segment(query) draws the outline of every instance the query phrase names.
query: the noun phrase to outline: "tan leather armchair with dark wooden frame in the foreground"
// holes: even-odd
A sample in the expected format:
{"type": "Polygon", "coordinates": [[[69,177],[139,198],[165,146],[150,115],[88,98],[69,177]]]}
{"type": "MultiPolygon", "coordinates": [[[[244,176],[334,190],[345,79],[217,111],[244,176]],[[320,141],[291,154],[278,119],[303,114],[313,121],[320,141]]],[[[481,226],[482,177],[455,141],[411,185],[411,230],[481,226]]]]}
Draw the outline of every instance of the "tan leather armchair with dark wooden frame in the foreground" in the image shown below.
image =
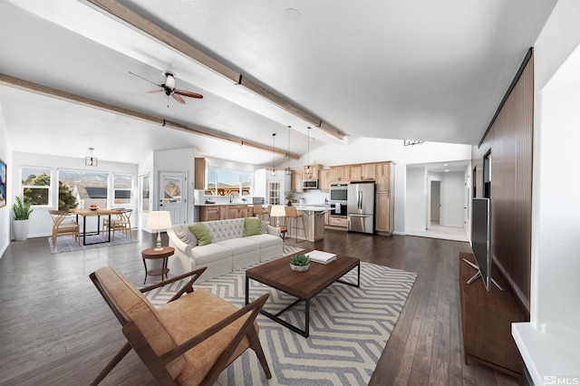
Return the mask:
{"type": "Polygon", "coordinates": [[[101,382],[131,348],[162,385],[211,385],[247,348],[256,352],[266,377],[272,378],[256,323],[268,294],[238,309],[203,289],[193,290],[193,283],[205,270],[202,267],[141,289],[110,266],[90,275],[128,341],[93,385],[101,382]],[[158,309],[143,295],[189,276],[189,282],[158,309]]]}

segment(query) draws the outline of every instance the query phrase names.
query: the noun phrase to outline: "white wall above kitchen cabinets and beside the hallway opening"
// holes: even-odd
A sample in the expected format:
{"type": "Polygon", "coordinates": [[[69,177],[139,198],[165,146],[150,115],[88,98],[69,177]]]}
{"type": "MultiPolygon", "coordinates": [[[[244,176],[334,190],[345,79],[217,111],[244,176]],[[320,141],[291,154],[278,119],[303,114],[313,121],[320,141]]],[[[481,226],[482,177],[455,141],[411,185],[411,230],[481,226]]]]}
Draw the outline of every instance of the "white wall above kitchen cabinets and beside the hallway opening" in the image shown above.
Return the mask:
{"type": "MultiPolygon", "coordinates": [[[[324,165],[327,169],[332,165],[347,165],[352,163],[394,161],[395,165],[395,229],[394,233],[405,233],[405,194],[406,165],[415,163],[444,162],[471,159],[471,147],[452,143],[425,142],[422,145],[403,146],[402,140],[382,140],[375,138],[349,138],[348,146],[329,144],[310,151],[311,163],[324,165]]],[[[306,156],[290,161],[290,167],[303,169],[306,156]]],[[[285,168],[286,165],[282,165],[285,168]]],[[[307,196],[304,196],[307,197],[307,196]]],[[[323,198],[324,199],[324,198],[323,198]]],[[[412,211],[414,207],[409,207],[412,211]]],[[[421,213],[425,217],[425,212],[421,213]]]]}

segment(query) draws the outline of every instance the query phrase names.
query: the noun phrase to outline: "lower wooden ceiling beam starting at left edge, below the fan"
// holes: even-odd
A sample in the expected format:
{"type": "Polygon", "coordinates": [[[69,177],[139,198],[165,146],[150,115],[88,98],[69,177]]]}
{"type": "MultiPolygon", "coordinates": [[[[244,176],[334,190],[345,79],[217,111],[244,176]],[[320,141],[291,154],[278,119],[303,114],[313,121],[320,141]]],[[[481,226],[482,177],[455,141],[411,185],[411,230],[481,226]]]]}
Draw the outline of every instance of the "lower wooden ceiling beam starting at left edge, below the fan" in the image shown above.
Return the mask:
{"type": "Polygon", "coordinates": [[[81,95],[73,94],[71,92],[63,92],[62,90],[53,89],[52,87],[43,86],[42,84],[24,81],[23,79],[14,78],[4,73],[0,73],[0,84],[9,87],[14,87],[19,90],[24,90],[26,92],[34,92],[43,96],[59,99],[61,101],[73,102],[76,104],[80,104],[82,106],[91,107],[92,109],[113,112],[118,115],[129,117],[131,119],[153,123],[174,130],[186,131],[192,134],[198,134],[215,140],[225,140],[228,142],[237,143],[240,146],[248,146],[254,149],[275,152],[275,154],[278,154],[283,157],[288,156],[291,159],[300,159],[300,157],[296,154],[293,153],[288,154],[284,150],[273,150],[272,148],[266,145],[262,145],[261,143],[256,143],[251,140],[244,140],[242,138],[227,136],[218,131],[207,130],[200,128],[198,126],[188,126],[179,122],[164,120],[162,118],[155,117],[150,114],[145,114],[140,111],[125,109],[123,107],[115,106],[110,103],[105,103],[103,101],[96,101],[91,98],[86,98],[81,95]]]}

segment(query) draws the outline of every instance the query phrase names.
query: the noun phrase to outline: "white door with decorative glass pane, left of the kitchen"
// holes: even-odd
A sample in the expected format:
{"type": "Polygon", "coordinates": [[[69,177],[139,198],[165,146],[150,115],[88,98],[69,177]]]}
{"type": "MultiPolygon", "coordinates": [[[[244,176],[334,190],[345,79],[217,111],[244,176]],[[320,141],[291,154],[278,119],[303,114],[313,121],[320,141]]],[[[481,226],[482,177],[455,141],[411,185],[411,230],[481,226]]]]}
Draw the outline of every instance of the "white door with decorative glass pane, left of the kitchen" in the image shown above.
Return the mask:
{"type": "Polygon", "coordinates": [[[160,172],[160,210],[171,215],[171,224],[185,224],[187,220],[186,198],[188,184],[183,171],[160,172]]]}

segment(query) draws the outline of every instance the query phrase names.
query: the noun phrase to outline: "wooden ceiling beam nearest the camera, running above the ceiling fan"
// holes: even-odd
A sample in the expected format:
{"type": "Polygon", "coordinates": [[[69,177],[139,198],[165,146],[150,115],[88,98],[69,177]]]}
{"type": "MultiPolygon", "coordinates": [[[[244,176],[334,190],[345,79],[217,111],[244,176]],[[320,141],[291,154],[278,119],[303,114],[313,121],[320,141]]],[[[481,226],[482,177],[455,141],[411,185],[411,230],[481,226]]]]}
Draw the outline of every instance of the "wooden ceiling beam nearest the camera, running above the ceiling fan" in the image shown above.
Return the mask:
{"type": "Polygon", "coordinates": [[[304,109],[296,106],[291,101],[287,101],[281,96],[266,90],[266,88],[260,86],[256,82],[247,79],[247,75],[238,73],[223,63],[219,63],[216,59],[209,56],[207,53],[199,51],[197,48],[193,47],[191,44],[179,39],[179,37],[174,34],[170,34],[165,29],[161,28],[159,25],[152,23],[150,20],[145,19],[140,14],[136,14],[124,5],[117,3],[114,0],[86,0],[88,3],[96,6],[107,14],[121,19],[123,22],[132,25],[137,30],[150,35],[152,38],[169,45],[169,47],[174,48],[179,53],[183,53],[194,61],[203,64],[214,72],[225,76],[239,85],[246,87],[247,90],[255,92],[257,95],[265,98],[267,101],[271,101],[279,108],[295,115],[296,117],[311,123],[313,126],[320,128],[325,133],[335,137],[338,140],[344,140],[344,134],[340,130],[333,128],[322,120],[314,117],[311,113],[304,111],[304,109]]]}

